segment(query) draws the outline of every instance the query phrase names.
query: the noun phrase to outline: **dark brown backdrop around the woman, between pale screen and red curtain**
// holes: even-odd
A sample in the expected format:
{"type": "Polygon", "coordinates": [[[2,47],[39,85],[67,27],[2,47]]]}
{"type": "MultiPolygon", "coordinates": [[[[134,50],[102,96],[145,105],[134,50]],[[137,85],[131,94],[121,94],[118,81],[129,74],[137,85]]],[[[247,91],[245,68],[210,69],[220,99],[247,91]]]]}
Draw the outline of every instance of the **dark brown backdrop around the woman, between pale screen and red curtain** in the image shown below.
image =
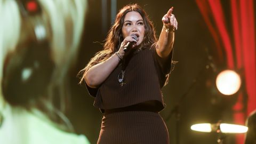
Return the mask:
{"type": "MultiPolygon", "coordinates": [[[[103,40],[111,26],[110,4],[107,4],[107,21],[102,21],[100,0],[89,0],[84,33],[75,69],[71,70],[72,108],[68,112],[71,123],[79,134],[85,134],[91,143],[97,143],[100,132],[102,114],[93,107],[94,99],[90,97],[85,85],[78,85],[77,73],[86,66],[93,55],[102,49],[103,40]],[[106,23],[105,28],[102,23],[106,23]],[[107,29],[106,29],[107,28],[107,29]]],[[[201,133],[190,130],[196,123],[217,123],[219,120],[233,123],[235,98],[223,97],[215,88],[215,76],[226,66],[216,57],[216,48],[212,36],[207,29],[195,1],[117,1],[117,11],[129,3],[138,3],[148,13],[159,36],[162,30],[162,17],[174,7],[173,14],[178,20],[175,32],[174,57],[178,61],[170,76],[169,84],[163,88],[166,108],[161,111],[170,134],[170,142],[175,143],[177,133],[180,143],[217,143],[217,134],[201,133]],[[209,57],[213,57],[209,60],[209,57]],[[216,67],[206,68],[213,64],[216,67]],[[180,121],[177,124],[173,108],[178,107],[180,121]],[[177,132],[177,128],[179,132],[177,132]]],[[[222,2],[223,6],[229,1],[222,2]]],[[[227,6],[228,7],[228,6],[227,6]]],[[[229,8],[223,10],[228,13],[229,8]]],[[[234,143],[234,135],[225,139],[226,143],[234,143]]]]}

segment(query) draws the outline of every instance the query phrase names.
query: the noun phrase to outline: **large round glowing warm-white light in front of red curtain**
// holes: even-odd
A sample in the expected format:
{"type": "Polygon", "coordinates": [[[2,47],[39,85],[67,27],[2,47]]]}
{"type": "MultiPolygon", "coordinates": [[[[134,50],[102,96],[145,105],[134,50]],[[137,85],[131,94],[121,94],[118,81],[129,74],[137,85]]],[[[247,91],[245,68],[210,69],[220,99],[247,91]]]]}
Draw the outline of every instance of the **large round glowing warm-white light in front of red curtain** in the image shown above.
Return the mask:
{"type": "Polygon", "coordinates": [[[217,89],[225,95],[236,93],[241,86],[241,78],[234,70],[223,70],[216,79],[217,89]]]}

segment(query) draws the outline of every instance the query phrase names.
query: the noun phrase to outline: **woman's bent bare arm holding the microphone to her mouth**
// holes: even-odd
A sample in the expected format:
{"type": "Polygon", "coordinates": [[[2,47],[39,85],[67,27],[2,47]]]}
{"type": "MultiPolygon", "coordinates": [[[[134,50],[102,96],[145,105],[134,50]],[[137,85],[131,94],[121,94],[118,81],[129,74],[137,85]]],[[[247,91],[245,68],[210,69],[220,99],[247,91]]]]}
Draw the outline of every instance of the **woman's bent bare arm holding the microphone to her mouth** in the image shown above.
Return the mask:
{"type": "MultiPolygon", "coordinates": [[[[124,41],[121,43],[121,46],[118,50],[118,54],[121,58],[124,55],[124,46],[127,42],[132,42],[134,39],[130,36],[127,36],[124,41]]],[[[85,73],[84,80],[89,87],[96,88],[101,83],[103,83],[106,78],[111,74],[111,72],[116,68],[119,61],[121,59],[118,58],[117,54],[112,55],[106,61],[98,63],[95,66],[92,66],[88,71],[85,73]]]]}

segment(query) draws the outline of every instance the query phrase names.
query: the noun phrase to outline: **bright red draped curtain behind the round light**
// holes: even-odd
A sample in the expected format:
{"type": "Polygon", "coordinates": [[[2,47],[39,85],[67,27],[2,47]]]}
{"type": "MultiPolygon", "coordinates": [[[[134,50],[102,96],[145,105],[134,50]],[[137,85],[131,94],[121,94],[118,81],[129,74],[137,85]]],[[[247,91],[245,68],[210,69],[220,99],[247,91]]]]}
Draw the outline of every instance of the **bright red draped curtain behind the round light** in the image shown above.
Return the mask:
{"type": "MultiPolygon", "coordinates": [[[[216,43],[219,59],[223,60],[222,50],[225,50],[227,69],[240,70],[247,93],[247,111],[244,109],[245,94],[239,93],[234,110],[234,122],[245,124],[246,116],[256,109],[256,59],[255,59],[255,23],[253,0],[230,0],[231,26],[227,26],[220,0],[196,0],[203,15],[206,26],[216,43]],[[211,22],[211,20],[213,22],[211,22]],[[227,27],[232,27],[232,35],[227,27]]],[[[225,8],[225,7],[223,7],[225,8]]],[[[242,144],[243,137],[237,137],[237,143],[242,144]]]]}

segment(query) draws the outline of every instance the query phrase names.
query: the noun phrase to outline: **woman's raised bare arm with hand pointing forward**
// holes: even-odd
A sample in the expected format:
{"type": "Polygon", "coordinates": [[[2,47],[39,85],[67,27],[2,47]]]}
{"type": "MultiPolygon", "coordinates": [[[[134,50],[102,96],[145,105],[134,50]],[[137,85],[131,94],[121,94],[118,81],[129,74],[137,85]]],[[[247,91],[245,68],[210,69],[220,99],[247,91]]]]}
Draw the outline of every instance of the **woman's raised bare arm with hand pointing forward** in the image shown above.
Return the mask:
{"type": "Polygon", "coordinates": [[[159,57],[166,59],[172,51],[174,43],[174,31],[177,29],[178,22],[172,14],[173,7],[164,15],[162,21],[164,23],[163,29],[159,36],[159,40],[156,45],[156,52],[159,57]]]}

